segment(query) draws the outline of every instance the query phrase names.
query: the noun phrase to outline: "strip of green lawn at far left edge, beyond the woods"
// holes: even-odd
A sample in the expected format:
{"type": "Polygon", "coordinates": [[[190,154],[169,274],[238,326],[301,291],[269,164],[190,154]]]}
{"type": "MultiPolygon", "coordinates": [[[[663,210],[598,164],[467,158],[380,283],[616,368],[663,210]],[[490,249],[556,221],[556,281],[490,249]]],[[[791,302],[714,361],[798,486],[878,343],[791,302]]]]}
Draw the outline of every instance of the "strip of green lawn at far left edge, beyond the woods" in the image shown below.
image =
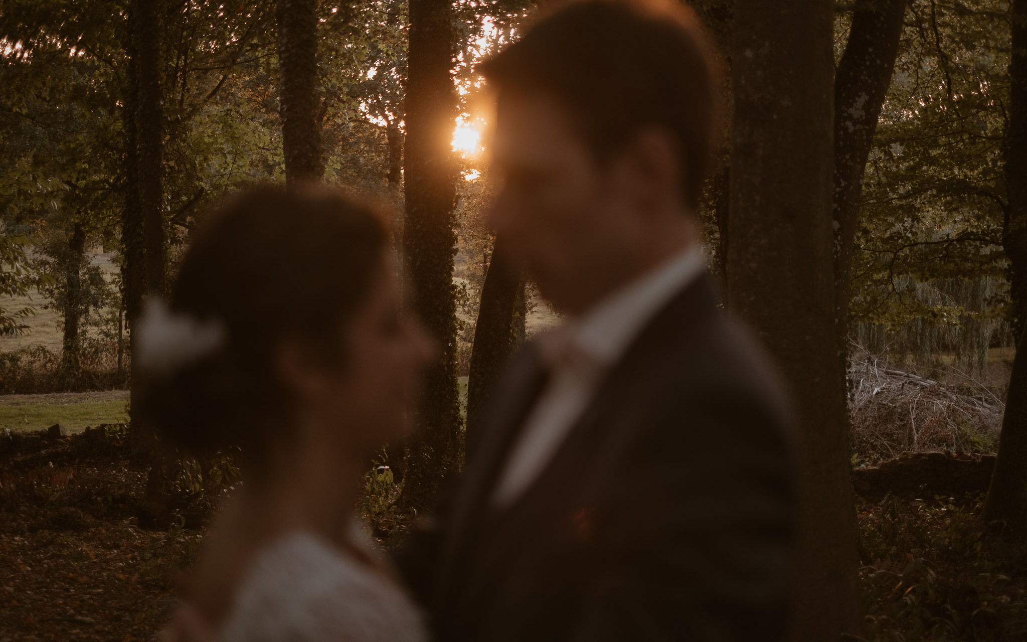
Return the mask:
{"type": "Polygon", "coordinates": [[[128,420],[127,390],[0,395],[0,430],[41,430],[54,423],[71,432],[128,420]]]}

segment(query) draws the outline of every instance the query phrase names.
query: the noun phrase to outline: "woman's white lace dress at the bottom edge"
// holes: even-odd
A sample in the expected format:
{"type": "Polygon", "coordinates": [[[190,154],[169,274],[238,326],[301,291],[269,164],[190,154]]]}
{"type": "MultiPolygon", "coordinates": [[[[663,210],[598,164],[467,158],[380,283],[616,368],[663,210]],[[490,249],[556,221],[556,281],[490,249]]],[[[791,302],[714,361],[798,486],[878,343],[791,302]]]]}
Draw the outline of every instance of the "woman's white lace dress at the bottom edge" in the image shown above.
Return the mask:
{"type": "Polygon", "coordinates": [[[424,642],[417,607],[393,581],[317,536],[277,540],[254,562],[223,642],[424,642]]]}

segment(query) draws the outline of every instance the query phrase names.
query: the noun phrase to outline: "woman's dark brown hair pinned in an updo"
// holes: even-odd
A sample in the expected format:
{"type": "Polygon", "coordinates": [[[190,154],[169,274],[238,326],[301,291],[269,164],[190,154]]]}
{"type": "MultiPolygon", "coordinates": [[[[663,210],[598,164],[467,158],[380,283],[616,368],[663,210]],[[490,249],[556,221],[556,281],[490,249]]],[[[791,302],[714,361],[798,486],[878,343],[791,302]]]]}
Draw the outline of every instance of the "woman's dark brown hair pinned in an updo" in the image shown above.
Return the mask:
{"type": "Polygon", "coordinates": [[[231,197],[195,235],[158,324],[186,330],[164,332],[164,347],[150,349],[166,353],[159,368],[141,364],[146,420],[193,455],[237,446],[244,461],[262,463],[295,423],[276,348],[300,339],[318,366],[344,368],[343,329],[368,299],[387,242],[377,214],[337,192],[261,187],[231,197]]]}

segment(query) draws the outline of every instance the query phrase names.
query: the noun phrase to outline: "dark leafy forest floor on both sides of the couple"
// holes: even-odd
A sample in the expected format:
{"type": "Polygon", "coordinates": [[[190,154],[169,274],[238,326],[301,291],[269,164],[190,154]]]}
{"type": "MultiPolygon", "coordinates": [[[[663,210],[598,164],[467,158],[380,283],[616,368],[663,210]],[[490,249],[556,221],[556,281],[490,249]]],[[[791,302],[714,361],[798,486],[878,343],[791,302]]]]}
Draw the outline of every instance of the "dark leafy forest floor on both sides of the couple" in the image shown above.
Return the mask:
{"type": "MultiPolygon", "coordinates": [[[[154,639],[204,531],[141,528],[145,477],[104,430],[0,454],[0,642],[154,639]]],[[[1027,639],[1027,546],[989,534],[981,508],[859,502],[867,640],[1027,639]]]]}

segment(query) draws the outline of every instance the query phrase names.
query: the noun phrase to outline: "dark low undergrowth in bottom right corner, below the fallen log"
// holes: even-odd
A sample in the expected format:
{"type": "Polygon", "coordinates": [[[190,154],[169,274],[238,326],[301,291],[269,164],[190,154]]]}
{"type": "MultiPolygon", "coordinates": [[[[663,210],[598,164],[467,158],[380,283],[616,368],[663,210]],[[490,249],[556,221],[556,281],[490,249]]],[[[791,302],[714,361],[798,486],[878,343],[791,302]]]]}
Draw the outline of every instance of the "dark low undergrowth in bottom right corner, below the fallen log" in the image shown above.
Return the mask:
{"type": "Polygon", "coordinates": [[[983,502],[888,495],[859,505],[869,639],[1025,639],[1027,544],[989,534],[983,502]]]}

